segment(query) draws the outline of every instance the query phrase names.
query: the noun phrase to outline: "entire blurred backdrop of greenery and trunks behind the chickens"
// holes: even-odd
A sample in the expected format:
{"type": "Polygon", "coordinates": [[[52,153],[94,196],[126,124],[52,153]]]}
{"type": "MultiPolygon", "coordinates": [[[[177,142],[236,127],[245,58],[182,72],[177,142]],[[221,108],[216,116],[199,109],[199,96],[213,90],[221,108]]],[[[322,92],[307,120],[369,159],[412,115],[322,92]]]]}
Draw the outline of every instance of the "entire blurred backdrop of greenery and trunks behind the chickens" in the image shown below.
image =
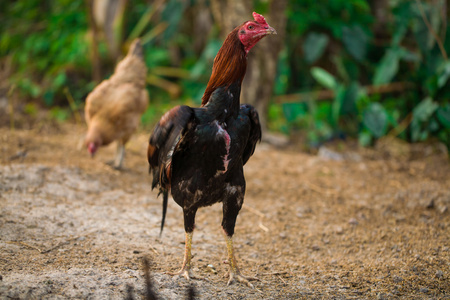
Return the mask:
{"type": "Polygon", "coordinates": [[[241,99],[266,132],[302,137],[308,148],[387,135],[449,148],[445,0],[240,2],[1,0],[0,125],[19,127],[14,116],[42,110],[80,122],[87,94],[141,37],[151,129],[174,105],[201,103],[224,37],[257,11],[278,35],[250,52],[241,99]]]}

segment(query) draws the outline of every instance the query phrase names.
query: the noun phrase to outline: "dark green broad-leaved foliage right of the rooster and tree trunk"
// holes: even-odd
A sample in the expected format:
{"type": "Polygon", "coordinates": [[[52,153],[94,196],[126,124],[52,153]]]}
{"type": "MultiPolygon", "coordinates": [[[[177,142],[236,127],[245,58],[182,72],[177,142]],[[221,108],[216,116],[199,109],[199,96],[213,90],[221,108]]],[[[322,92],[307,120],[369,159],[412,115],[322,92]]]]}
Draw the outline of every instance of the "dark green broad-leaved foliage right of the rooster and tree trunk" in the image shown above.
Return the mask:
{"type": "Polygon", "coordinates": [[[388,2],[385,15],[392,18],[374,32],[376,20],[366,1],[291,1],[288,28],[294,34],[286,43],[290,74],[303,80],[291,75],[287,91],[311,90],[317,83],[316,88],[332,90],[334,97],[320,105],[311,105],[311,99],[306,111],[283,105],[288,128],[303,128],[310,144],[344,133],[368,146],[392,133],[411,142],[435,136],[450,147],[450,61],[445,56],[450,26],[442,19],[443,0],[436,4],[388,2]],[[382,38],[377,37],[380,32],[382,38]],[[391,85],[399,88],[375,90],[391,85]],[[318,107],[328,113],[319,116],[318,107]],[[314,122],[327,126],[311,126],[314,122]],[[327,134],[311,133],[325,127],[330,128],[327,134]]]}

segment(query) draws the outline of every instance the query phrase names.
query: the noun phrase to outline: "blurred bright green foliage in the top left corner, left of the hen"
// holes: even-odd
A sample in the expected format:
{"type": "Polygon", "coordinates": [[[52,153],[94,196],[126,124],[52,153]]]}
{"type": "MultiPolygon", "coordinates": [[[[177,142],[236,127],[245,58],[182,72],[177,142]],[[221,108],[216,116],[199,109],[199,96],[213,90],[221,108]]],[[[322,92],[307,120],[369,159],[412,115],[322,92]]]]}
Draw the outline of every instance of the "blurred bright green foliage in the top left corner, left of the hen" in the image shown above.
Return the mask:
{"type": "MultiPolygon", "coordinates": [[[[87,81],[73,74],[89,72],[86,14],[83,0],[13,1],[0,13],[0,57],[10,56],[15,73],[10,78],[25,97],[44,99],[51,106],[62,87],[79,84],[77,96],[86,93],[87,81]]],[[[73,86],[75,87],[75,86],[73,86]]]]}

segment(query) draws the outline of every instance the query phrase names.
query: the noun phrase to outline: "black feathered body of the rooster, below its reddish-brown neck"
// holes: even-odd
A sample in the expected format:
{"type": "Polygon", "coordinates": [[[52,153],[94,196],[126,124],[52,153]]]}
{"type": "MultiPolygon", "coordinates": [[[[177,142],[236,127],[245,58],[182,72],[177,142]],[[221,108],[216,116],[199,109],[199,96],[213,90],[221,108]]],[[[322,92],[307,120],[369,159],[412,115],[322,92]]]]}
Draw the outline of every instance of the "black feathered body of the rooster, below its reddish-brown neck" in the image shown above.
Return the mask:
{"type": "Polygon", "coordinates": [[[243,165],[261,140],[258,113],[240,105],[240,84],[217,88],[200,108],[178,106],[164,115],[149,143],[153,187],[163,194],[164,226],[168,191],[183,208],[192,232],[199,207],[223,203],[222,226],[228,235],[245,194],[243,165]]]}

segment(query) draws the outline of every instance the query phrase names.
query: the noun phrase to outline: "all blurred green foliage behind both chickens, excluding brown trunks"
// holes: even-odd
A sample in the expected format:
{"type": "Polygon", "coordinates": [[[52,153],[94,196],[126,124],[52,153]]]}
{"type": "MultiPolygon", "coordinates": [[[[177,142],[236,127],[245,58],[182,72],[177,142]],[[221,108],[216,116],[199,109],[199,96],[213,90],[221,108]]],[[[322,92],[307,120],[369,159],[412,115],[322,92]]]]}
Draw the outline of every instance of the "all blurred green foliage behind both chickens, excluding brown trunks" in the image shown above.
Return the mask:
{"type": "MultiPolygon", "coordinates": [[[[389,17],[381,25],[372,13],[375,2],[288,1],[274,94],[331,90],[333,96],[316,101],[313,92],[304,103],[271,105],[269,127],[287,134],[305,131],[313,146],[342,136],[367,146],[386,134],[411,142],[435,137],[449,146],[450,61],[445,53],[450,52],[450,23],[442,18],[444,1],[388,1],[383,16],[389,17]],[[400,87],[382,91],[392,85],[400,87]]],[[[255,11],[270,12],[270,1],[252,3],[255,11]]],[[[196,17],[198,1],[168,0],[161,9],[154,4],[130,2],[120,33],[123,50],[135,37],[145,42],[152,103],[142,117],[145,124],[175,104],[200,103],[222,44],[217,26],[195,32],[196,22],[189,18],[196,17]],[[201,48],[196,46],[199,35],[208,37],[201,48]]],[[[52,108],[51,118],[65,120],[70,110],[64,89],[78,103],[93,89],[86,12],[85,0],[2,6],[0,63],[11,62],[8,80],[29,100],[26,114],[45,105],[52,108]]],[[[115,62],[105,59],[104,42],[99,54],[102,67],[112,71],[115,62]]]]}

